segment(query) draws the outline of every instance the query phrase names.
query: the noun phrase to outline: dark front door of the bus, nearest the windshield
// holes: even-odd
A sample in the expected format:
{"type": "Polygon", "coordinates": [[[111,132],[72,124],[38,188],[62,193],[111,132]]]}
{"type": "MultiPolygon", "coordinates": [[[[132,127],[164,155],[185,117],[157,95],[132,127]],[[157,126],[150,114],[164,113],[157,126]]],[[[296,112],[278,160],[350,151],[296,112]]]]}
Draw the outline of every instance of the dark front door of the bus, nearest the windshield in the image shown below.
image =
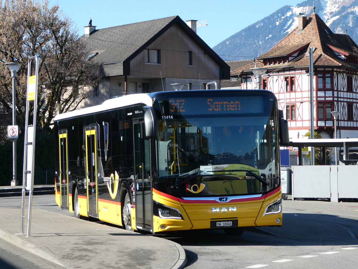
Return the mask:
{"type": "Polygon", "coordinates": [[[134,121],[133,124],[136,227],[153,230],[149,139],[145,136],[143,122],[138,120],[134,121]]]}

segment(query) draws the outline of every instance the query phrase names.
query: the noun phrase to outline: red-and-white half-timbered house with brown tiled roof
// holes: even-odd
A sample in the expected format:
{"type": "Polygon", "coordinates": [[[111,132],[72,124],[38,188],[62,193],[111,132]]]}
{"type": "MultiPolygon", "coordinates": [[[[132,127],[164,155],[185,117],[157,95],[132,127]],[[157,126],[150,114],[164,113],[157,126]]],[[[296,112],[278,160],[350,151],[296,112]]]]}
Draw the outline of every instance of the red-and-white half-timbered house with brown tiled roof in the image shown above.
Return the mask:
{"type": "MultiPolygon", "coordinates": [[[[270,51],[257,57],[256,66],[266,74],[262,89],[275,93],[279,109],[286,111],[291,138],[303,137],[310,130],[309,57],[313,53],[314,129],[323,138],[334,137],[338,111],[337,138],[358,137],[358,46],[347,34],[335,34],[313,13],[299,17],[299,26],[270,51]]],[[[257,88],[247,65],[231,72],[242,79],[242,89],[257,88]]]]}

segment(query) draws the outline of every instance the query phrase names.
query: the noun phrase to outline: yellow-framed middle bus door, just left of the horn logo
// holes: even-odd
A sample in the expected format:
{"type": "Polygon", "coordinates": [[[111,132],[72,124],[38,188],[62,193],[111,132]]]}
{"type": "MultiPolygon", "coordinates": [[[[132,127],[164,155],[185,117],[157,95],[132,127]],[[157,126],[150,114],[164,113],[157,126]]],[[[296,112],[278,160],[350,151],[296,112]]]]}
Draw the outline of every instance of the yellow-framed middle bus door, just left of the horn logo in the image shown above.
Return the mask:
{"type": "Polygon", "coordinates": [[[85,127],[87,214],[98,217],[97,188],[97,130],[85,127]]]}

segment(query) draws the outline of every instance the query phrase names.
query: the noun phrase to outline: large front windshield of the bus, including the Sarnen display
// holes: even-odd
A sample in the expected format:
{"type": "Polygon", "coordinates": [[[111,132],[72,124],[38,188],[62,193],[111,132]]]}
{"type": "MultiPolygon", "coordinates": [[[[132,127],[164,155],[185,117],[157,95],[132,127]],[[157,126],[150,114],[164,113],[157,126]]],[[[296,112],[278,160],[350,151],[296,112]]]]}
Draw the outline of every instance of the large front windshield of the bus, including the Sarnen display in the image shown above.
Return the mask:
{"type": "Polygon", "coordinates": [[[277,104],[271,94],[165,96],[157,188],[179,197],[265,193],[279,185],[277,104]]]}

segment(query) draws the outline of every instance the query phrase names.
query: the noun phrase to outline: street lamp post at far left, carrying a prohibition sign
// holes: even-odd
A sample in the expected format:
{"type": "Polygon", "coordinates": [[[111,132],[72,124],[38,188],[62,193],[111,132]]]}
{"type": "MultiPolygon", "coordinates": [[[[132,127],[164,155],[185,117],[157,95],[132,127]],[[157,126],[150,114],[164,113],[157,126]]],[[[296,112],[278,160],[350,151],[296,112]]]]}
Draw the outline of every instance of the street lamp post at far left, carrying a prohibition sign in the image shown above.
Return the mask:
{"type": "MultiPolygon", "coordinates": [[[[13,125],[16,125],[16,73],[19,71],[22,63],[9,62],[5,63],[8,66],[11,77],[13,78],[13,125]]],[[[11,186],[19,185],[19,181],[16,178],[16,138],[13,138],[13,179],[11,180],[11,186]]]]}

